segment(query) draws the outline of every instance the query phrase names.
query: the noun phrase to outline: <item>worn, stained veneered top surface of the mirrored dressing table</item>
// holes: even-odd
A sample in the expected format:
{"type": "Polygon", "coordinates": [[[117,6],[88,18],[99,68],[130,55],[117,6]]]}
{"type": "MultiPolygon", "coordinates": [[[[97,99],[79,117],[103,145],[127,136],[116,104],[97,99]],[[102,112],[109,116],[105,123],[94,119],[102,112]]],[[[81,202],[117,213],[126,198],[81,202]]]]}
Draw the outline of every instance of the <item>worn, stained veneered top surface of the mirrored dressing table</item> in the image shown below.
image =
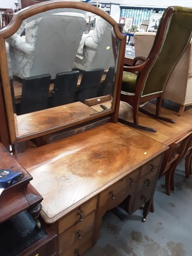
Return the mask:
{"type": "Polygon", "coordinates": [[[54,223],[168,147],[123,124],[108,123],[16,156],[44,197],[54,223]]]}

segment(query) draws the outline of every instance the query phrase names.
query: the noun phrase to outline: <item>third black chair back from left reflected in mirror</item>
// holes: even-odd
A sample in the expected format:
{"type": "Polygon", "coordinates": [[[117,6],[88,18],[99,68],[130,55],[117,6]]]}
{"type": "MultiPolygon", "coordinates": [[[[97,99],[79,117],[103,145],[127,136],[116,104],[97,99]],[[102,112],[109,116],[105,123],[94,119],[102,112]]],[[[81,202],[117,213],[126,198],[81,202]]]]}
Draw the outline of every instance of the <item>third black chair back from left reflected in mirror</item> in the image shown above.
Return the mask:
{"type": "Polygon", "coordinates": [[[83,72],[81,83],[76,93],[76,101],[84,103],[86,99],[97,97],[103,72],[104,68],[96,68],[83,72]]]}

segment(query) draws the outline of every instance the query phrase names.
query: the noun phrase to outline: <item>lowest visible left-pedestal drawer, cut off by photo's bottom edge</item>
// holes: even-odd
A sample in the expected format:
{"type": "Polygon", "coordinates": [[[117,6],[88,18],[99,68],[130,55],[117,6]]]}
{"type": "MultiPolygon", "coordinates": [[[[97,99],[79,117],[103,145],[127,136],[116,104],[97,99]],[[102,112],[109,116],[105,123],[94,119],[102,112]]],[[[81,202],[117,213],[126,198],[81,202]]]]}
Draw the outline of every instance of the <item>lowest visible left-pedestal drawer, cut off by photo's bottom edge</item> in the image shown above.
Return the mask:
{"type": "Polygon", "coordinates": [[[81,256],[84,252],[93,246],[93,239],[81,241],[79,244],[74,244],[67,251],[59,253],[59,256],[81,256]]]}

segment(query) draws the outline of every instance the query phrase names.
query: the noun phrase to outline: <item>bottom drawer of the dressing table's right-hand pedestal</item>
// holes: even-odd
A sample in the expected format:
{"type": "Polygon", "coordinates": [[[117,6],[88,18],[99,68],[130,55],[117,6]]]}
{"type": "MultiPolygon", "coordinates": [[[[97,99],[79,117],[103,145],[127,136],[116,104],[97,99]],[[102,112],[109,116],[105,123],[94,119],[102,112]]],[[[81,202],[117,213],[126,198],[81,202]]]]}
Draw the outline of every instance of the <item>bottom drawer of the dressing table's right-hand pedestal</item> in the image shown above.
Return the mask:
{"type": "MultiPolygon", "coordinates": [[[[132,212],[138,210],[143,204],[150,200],[152,193],[154,192],[155,184],[156,182],[153,182],[150,187],[143,189],[136,195],[132,212]]],[[[132,214],[132,212],[130,214],[132,214]]]]}

